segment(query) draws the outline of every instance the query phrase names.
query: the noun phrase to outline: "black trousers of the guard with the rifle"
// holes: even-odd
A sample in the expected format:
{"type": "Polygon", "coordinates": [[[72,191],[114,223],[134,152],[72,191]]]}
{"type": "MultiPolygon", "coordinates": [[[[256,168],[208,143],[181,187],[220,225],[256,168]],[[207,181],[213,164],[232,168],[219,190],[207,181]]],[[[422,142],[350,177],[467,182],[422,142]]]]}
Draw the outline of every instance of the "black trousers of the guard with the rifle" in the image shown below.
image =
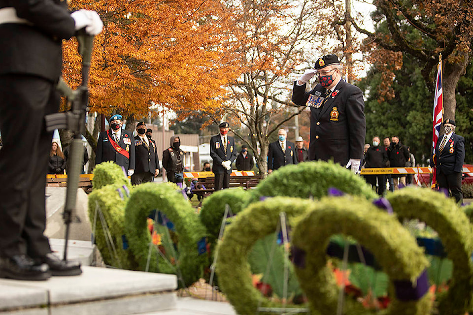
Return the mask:
{"type": "Polygon", "coordinates": [[[0,255],[51,252],[45,186],[52,132],[44,116],[59,109],[56,85],[29,75],[0,75],[0,255]]]}

